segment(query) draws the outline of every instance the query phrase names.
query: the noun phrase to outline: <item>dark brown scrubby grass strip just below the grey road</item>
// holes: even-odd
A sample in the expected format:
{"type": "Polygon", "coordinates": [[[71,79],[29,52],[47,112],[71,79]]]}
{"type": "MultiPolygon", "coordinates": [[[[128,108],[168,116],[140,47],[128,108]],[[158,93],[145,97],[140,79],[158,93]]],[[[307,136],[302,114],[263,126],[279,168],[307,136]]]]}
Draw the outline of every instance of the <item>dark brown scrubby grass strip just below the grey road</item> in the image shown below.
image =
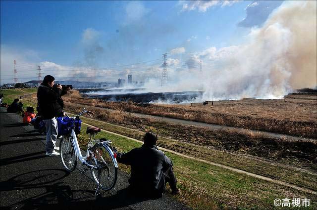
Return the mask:
{"type": "MultiPolygon", "coordinates": [[[[78,113],[80,105],[65,103],[67,110],[78,113]]],[[[108,123],[140,131],[154,131],[160,136],[177,139],[197,145],[204,145],[218,150],[236,151],[241,154],[262,157],[288,163],[302,168],[316,169],[317,144],[311,141],[289,141],[264,136],[260,133],[240,130],[213,130],[199,126],[181,126],[152,119],[138,118],[122,111],[108,111],[89,108],[95,112],[95,118],[108,123]]]]}

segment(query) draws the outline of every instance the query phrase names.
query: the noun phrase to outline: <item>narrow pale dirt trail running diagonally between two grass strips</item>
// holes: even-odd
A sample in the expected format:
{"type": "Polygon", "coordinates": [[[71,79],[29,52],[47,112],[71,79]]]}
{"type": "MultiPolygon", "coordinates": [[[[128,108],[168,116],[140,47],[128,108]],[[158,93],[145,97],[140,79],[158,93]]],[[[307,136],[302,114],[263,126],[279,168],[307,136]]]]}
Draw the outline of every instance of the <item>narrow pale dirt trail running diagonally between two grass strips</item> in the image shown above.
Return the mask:
{"type": "MultiPolygon", "coordinates": [[[[92,125],[86,124],[86,123],[83,123],[83,124],[85,124],[87,126],[92,126],[92,125]]],[[[136,142],[143,143],[140,140],[137,140],[137,139],[125,136],[125,135],[121,135],[121,134],[118,134],[118,133],[114,133],[114,132],[111,132],[111,131],[108,131],[108,130],[105,130],[105,129],[102,129],[102,131],[105,131],[105,132],[111,133],[111,134],[115,134],[115,135],[130,139],[130,140],[133,140],[133,141],[136,141],[136,142]]],[[[204,163],[216,166],[216,167],[225,168],[225,169],[232,170],[232,171],[235,171],[235,172],[238,172],[238,173],[243,173],[243,174],[246,174],[246,175],[249,175],[249,176],[252,176],[252,177],[256,177],[256,178],[263,179],[263,180],[266,180],[266,181],[269,181],[269,182],[273,182],[273,183],[276,183],[276,184],[279,184],[279,185],[283,185],[283,186],[290,187],[290,188],[293,188],[293,189],[296,189],[296,190],[300,190],[300,191],[303,191],[303,192],[307,192],[307,193],[311,193],[311,194],[317,195],[316,191],[308,189],[308,188],[305,188],[305,187],[299,187],[299,186],[294,185],[294,184],[290,184],[290,183],[287,183],[287,182],[283,182],[283,181],[279,181],[279,180],[276,180],[276,179],[268,178],[268,177],[261,176],[261,175],[255,174],[255,173],[250,173],[250,172],[247,172],[247,171],[244,171],[244,170],[240,170],[240,169],[237,169],[237,168],[228,167],[228,166],[225,166],[225,165],[222,165],[222,164],[218,164],[218,163],[214,163],[214,162],[211,162],[211,161],[198,159],[198,158],[195,158],[195,157],[184,155],[184,154],[179,153],[179,152],[175,152],[173,150],[165,149],[163,147],[158,147],[158,148],[160,150],[163,150],[163,151],[166,151],[166,152],[170,152],[170,153],[173,153],[175,155],[179,155],[179,156],[182,156],[182,157],[185,157],[185,158],[188,158],[188,159],[204,162],[204,163]]]]}

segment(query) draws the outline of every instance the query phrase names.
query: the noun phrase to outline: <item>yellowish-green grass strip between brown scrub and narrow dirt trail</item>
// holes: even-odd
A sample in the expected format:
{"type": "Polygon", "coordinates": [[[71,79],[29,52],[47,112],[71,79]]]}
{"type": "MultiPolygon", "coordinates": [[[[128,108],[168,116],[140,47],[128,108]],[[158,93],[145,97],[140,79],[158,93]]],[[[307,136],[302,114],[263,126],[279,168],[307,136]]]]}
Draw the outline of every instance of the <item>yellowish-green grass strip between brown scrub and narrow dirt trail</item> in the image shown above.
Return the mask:
{"type": "MultiPolygon", "coordinates": [[[[123,126],[116,126],[109,123],[94,121],[82,118],[90,125],[101,127],[105,130],[125,135],[138,140],[143,140],[145,132],[129,129],[123,126]]],[[[284,182],[307,187],[316,191],[316,173],[299,170],[287,165],[270,163],[262,159],[255,159],[238,153],[220,151],[206,146],[195,145],[188,142],[181,142],[174,139],[159,137],[158,145],[166,149],[183,153],[192,157],[238,168],[255,174],[263,175],[284,182]]]]}

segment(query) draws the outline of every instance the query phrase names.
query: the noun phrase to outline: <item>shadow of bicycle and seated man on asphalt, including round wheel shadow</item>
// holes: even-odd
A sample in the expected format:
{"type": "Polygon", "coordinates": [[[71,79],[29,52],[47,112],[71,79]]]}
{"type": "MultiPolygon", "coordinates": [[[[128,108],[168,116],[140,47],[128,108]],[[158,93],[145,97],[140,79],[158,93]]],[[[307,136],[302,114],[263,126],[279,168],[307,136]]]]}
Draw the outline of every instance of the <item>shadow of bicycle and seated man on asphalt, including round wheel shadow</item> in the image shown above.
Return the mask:
{"type": "MultiPolygon", "coordinates": [[[[130,205],[150,198],[136,197],[131,195],[128,188],[113,193],[113,190],[95,196],[93,190],[71,190],[62,181],[69,173],[62,169],[43,169],[26,172],[14,176],[7,181],[0,182],[0,191],[16,191],[25,189],[42,188],[40,194],[16,202],[4,207],[5,210],[33,209],[117,209],[127,208],[130,205]],[[57,181],[57,182],[56,182],[57,181]],[[50,183],[56,182],[53,185],[50,183]],[[102,197],[104,195],[104,197],[102,197]],[[96,198],[95,200],[91,200],[96,198]],[[90,199],[90,200],[88,200],[90,199]]],[[[38,192],[39,190],[33,190],[38,192]]],[[[3,210],[2,209],[2,210],[3,210]]]]}

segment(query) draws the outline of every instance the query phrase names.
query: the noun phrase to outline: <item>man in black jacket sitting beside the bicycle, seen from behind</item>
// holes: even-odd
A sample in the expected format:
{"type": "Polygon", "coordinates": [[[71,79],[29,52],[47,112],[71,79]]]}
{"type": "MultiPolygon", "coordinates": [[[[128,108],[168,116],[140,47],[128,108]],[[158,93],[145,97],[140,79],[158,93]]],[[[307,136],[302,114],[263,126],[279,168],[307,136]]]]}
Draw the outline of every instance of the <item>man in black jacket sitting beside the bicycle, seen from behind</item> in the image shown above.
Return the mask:
{"type": "Polygon", "coordinates": [[[129,189],[133,194],[162,197],[166,182],[172,189],[172,194],[179,194],[172,161],[156,146],[158,135],[147,132],[142,147],[132,149],[127,153],[117,153],[118,163],[131,166],[129,189]]]}

